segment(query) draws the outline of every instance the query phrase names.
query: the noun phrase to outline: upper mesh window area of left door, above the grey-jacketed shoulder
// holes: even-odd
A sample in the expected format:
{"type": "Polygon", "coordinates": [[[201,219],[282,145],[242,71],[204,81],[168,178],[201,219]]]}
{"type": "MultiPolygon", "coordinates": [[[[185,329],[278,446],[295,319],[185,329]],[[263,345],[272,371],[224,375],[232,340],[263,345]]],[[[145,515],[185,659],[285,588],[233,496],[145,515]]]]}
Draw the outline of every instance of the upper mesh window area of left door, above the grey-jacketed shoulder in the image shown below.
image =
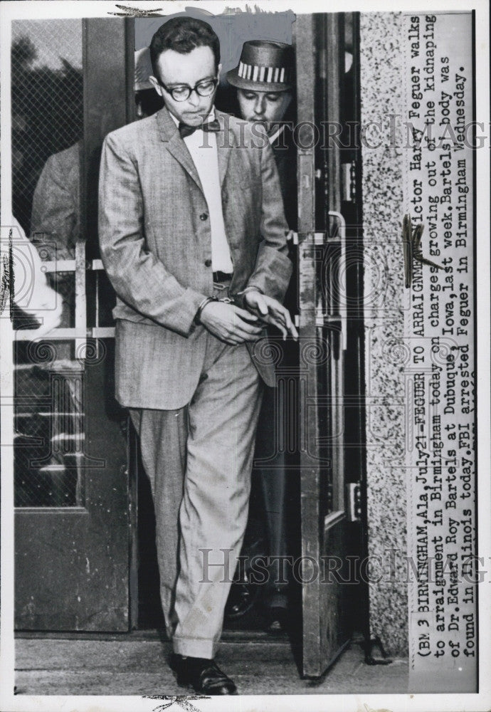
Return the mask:
{"type": "Polygon", "coordinates": [[[16,21],[12,33],[12,205],[28,234],[48,157],[83,135],[82,21],[16,21]]]}

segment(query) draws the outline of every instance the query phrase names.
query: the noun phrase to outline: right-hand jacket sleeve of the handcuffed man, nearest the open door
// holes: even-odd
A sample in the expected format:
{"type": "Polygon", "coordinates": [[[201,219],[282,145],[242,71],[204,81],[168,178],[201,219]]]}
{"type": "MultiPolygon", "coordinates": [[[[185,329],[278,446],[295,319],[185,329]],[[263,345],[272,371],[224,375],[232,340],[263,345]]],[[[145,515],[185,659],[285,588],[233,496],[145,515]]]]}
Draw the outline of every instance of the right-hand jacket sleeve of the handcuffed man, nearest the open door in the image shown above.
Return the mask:
{"type": "Polygon", "coordinates": [[[259,244],[254,271],[244,292],[250,288],[256,288],[263,294],[283,302],[292,275],[292,263],[287,255],[289,229],[283,211],[280,177],[273,149],[267,139],[259,153],[263,194],[260,221],[262,240],[259,244]]]}

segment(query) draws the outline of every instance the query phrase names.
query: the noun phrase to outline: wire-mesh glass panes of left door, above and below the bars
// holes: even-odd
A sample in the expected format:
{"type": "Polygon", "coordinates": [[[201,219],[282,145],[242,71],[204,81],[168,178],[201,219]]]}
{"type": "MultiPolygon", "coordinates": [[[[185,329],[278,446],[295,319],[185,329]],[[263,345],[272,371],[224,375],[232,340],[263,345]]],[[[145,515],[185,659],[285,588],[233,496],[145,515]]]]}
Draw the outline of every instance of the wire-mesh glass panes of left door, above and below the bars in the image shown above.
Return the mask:
{"type": "MultiPolygon", "coordinates": [[[[43,260],[73,259],[80,226],[82,21],[12,27],[12,206],[43,260]]],[[[74,273],[48,274],[71,327],[74,273]]],[[[18,314],[14,328],[33,328],[18,314]]],[[[83,505],[83,366],[73,341],[14,345],[15,504],[83,505]]]]}

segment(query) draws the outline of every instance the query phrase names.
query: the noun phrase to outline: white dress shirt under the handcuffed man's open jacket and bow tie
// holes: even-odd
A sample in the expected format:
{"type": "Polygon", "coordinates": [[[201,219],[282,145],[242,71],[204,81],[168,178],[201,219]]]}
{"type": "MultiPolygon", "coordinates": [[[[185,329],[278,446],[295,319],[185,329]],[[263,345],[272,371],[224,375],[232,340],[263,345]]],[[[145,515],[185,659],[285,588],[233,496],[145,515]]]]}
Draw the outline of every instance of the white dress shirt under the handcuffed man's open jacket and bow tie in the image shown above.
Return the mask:
{"type": "MultiPolygon", "coordinates": [[[[170,113],[170,112],[169,112],[170,113]]],[[[171,114],[176,126],[179,121],[171,114]]],[[[214,119],[214,112],[211,112],[206,121],[214,119]]],[[[203,187],[204,197],[208,204],[208,215],[210,219],[211,231],[211,264],[213,272],[233,272],[233,263],[228,247],[228,241],[223,221],[223,209],[221,204],[221,185],[218,174],[218,148],[216,145],[216,133],[206,132],[206,137],[202,129],[196,129],[190,136],[184,138],[184,143],[188,147],[191,158],[199,175],[203,187]]]]}

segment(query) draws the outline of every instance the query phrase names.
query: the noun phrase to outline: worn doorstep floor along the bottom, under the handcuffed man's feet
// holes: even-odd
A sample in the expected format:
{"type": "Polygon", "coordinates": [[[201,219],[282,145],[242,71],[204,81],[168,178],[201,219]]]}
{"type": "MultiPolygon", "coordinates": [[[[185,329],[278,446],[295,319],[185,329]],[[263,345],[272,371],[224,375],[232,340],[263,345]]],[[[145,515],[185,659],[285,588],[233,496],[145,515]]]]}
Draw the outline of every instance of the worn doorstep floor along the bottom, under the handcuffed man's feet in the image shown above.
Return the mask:
{"type": "MultiPolygon", "coordinates": [[[[170,644],[159,632],[137,634],[17,634],[19,695],[183,695],[167,666],[170,644]],[[76,637],[75,637],[76,636],[76,637]],[[84,636],[84,637],[82,637],[84,636]]],[[[301,679],[286,637],[233,632],[224,636],[216,661],[241,695],[406,693],[408,661],[367,665],[350,645],[319,680],[301,679]],[[247,637],[247,635],[249,637],[247,637]]],[[[191,691],[189,691],[191,694],[191,691]]]]}

